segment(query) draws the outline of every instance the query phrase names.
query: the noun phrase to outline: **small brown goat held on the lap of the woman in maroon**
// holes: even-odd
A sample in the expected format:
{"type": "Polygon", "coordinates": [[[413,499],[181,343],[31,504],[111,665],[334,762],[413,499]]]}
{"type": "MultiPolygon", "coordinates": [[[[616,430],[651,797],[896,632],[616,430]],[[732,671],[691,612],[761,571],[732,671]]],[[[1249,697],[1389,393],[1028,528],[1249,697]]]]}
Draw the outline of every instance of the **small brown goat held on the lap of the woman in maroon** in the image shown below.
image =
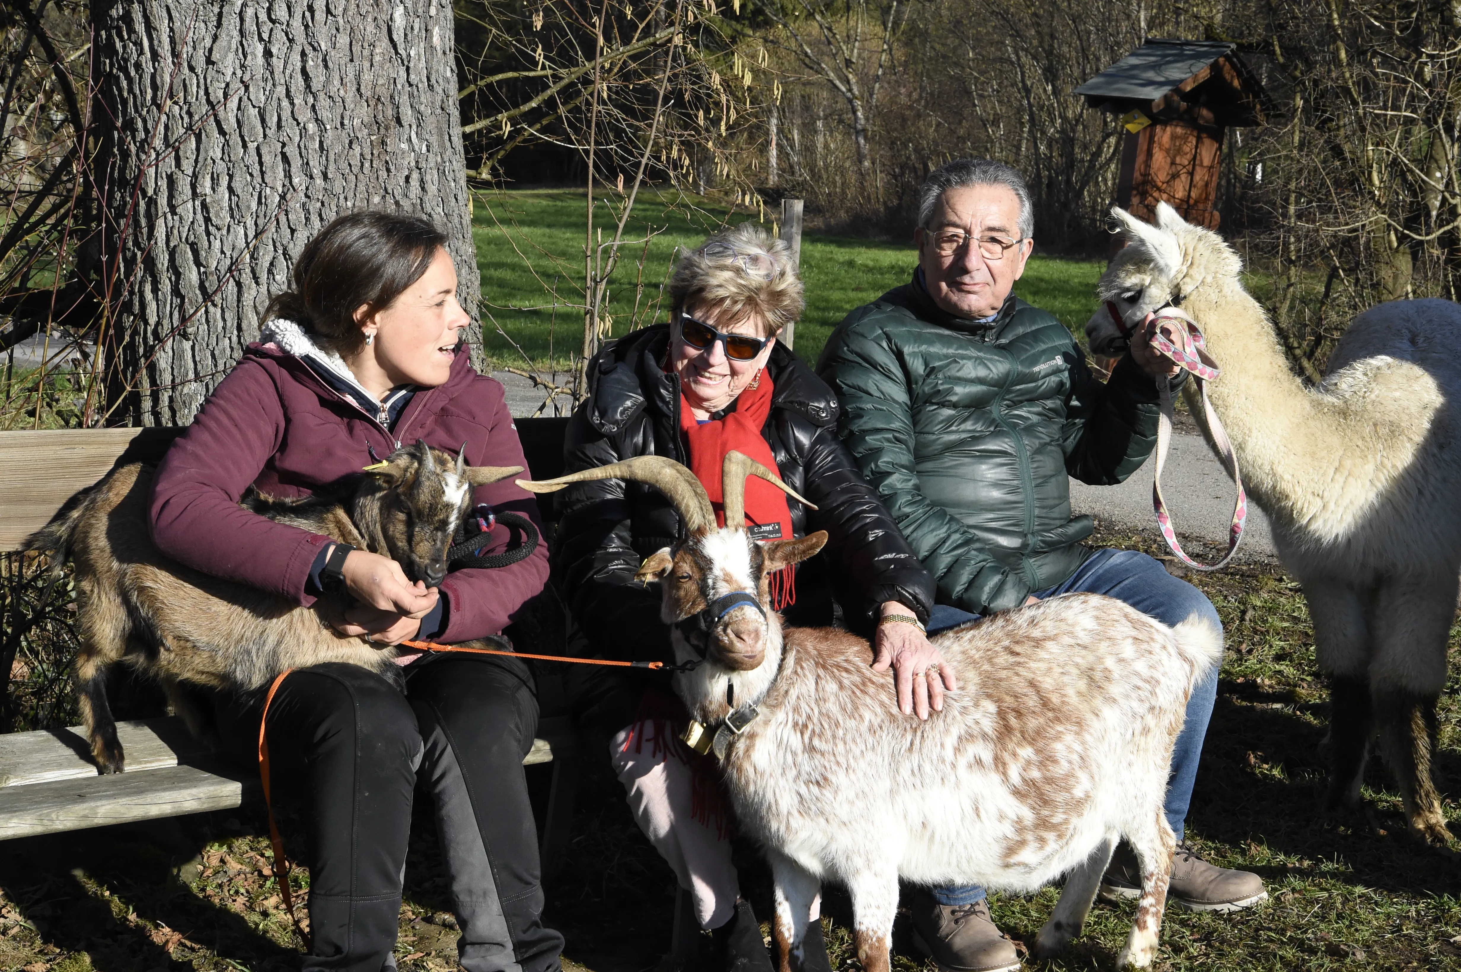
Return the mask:
{"type": "MultiPolygon", "coordinates": [[[[418,442],[396,450],[345,501],[250,492],[240,505],[387,556],[412,581],[438,584],[453,534],[472,505],[470,487],[520,471],[520,466],[469,467],[460,455],[418,442]]],[[[50,555],[53,576],[66,560],[76,569],[82,641],[76,689],[102,774],[121,772],[124,759],[107,705],[107,666],[114,661],[158,679],[194,734],[203,734],[202,721],[180,683],[248,690],[286,668],[327,661],[394,670],[393,647],[342,635],[326,623],[345,609],[337,594],[300,607],[279,594],[200,574],[164,556],[148,528],[150,495],[152,467],[112,470],[26,541],[26,549],[50,555]]]]}

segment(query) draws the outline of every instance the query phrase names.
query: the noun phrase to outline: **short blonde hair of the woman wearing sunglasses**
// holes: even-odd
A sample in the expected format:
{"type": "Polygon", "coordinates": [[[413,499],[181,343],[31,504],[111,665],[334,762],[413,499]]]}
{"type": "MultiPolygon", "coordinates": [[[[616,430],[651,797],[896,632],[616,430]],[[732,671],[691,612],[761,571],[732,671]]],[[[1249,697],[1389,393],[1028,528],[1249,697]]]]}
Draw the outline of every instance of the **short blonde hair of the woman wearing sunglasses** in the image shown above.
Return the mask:
{"type": "Polygon", "coordinates": [[[761,337],[779,334],[805,306],[792,248],[755,223],[719,232],[685,252],[669,280],[669,299],[675,311],[713,305],[728,323],[754,315],[761,337]]]}

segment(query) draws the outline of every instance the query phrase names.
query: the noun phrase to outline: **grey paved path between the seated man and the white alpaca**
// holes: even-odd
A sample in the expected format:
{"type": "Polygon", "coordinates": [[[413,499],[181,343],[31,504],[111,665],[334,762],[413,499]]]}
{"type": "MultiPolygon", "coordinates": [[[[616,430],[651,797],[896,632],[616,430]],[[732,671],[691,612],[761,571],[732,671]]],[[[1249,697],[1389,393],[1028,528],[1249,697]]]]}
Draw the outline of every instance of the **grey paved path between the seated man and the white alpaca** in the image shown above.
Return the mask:
{"type": "MultiPolygon", "coordinates": [[[[1071,480],[1071,506],[1090,514],[1103,525],[1140,530],[1161,543],[1157,514],[1151,509],[1151,473],[1156,457],[1132,473],[1121,486],[1087,486],[1071,480]]],[[[1173,435],[1172,451],[1161,474],[1161,495],[1172,511],[1179,539],[1185,534],[1218,543],[1227,549],[1227,528],[1233,521],[1233,482],[1218,464],[1213,450],[1199,435],[1173,435]]],[[[1192,556],[1192,552],[1188,550],[1192,556]]],[[[1211,558],[1194,556],[1202,560],[1211,558]]],[[[1248,502],[1248,528],[1237,547],[1237,559],[1277,560],[1273,531],[1264,511],[1248,502]]]]}

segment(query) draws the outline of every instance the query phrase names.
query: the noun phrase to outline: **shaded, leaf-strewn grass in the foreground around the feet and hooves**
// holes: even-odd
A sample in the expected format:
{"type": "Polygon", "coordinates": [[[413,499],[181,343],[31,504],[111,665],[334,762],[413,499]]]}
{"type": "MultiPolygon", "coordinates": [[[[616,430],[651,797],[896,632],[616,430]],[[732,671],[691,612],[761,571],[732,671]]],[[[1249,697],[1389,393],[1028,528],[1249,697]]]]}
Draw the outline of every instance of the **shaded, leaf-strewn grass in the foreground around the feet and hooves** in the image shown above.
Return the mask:
{"type": "MultiPolygon", "coordinates": [[[[1106,533],[1096,541],[1159,552],[1145,536],[1106,533]]],[[[1188,833],[1210,860],[1259,873],[1270,900],[1236,915],[1173,908],[1154,968],[1461,969],[1461,868],[1405,836],[1400,798],[1379,760],[1366,778],[1369,814],[1322,809],[1318,744],[1328,702],[1297,585],[1265,565],[1188,579],[1213,600],[1227,632],[1188,833]]],[[[1452,829],[1461,826],[1458,648],[1461,628],[1451,632],[1435,760],[1452,829]]],[[[567,865],[545,886],[548,921],[567,936],[568,972],[641,972],[668,950],[674,879],[634,828],[622,790],[600,765],[606,760],[595,756],[586,760],[567,865]]],[[[0,972],[298,968],[264,864],[266,833],[262,813],[238,811],[0,845],[0,972]]],[[[457,968],[457,933],[424,800],[411,842],[396,962],[402,972],[449,972],[457,968]]],[[[767,918],[770,879],[755,848],[739,844],[736,864],[742,892],[767,918]]],[[[993,917],[1029,943],[1055,898],[1053,889],[995,895],[993,917]]],[[[833,968],[855,968],[846,895],[827,889],[823,914],[833,968]]],[[[1026,968],[1110,969],[1134,914],[1131,902],[1097,903],[1064,956],[1026,968]]],[[[932,972],[912,943],[906,912],[893,946],[894,969],[932,972]]]]}

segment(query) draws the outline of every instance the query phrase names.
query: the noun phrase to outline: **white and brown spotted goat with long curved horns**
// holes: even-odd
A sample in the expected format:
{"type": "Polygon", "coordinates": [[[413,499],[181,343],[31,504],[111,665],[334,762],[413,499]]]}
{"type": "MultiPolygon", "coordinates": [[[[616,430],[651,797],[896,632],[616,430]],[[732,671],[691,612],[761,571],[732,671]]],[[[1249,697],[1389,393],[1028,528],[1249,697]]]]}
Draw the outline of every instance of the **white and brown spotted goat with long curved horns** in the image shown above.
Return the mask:
{"type": "MultiPolygon", "coordinates": [[[[732,452],[728,524],[744,521],[748,474],[796,496],[732,452]]],[[[1170,629],[1094,594],[999,614],[934,639],[960,689],[925,722],[899,712],[866,641],[783,629],[768,609],[767,578],[825,533],[761,544],[717,528],[694,474],[665,457],[519,483],[586,479],[650,483],[685,520],[687,539],[640,576],[663,585],[679,660],[704,660],[675,689],[714,734],[736,816],[770,858],[783,971],[801,968],[823,880],[852,895],[863,968],[887,972],[900,879],[1033,892],[1064,874],[1036,941],[1053,953],[1080,931],[1122,838],[1141,863],[1141,902],[1118,962],[1151,963],[1173,852],[1161,810],[1172,747],[1192,686],[1217,664],[1217,630],[1198,619],[1170,629]]]]}

